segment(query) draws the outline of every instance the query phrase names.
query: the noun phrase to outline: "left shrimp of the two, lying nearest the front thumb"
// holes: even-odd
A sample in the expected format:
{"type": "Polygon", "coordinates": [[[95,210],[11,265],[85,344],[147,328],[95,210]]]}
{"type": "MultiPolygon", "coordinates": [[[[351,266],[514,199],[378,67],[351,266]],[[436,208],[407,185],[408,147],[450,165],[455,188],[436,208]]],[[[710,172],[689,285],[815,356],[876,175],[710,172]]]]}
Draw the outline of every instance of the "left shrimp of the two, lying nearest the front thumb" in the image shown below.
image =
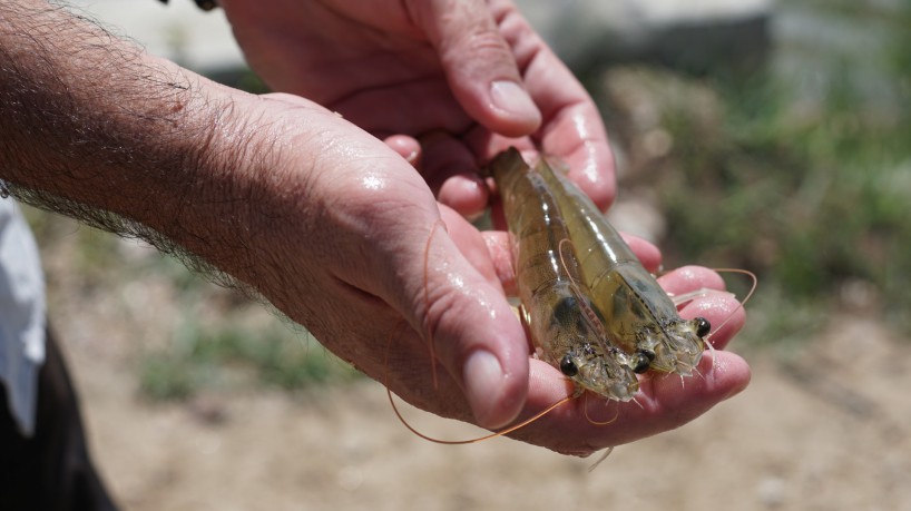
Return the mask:
{"type": "Polygon", "coordinates": [[[513,239],[523,320],[538,355],[585,390],[629,401],[639,387],[628,355],[607,342],[604,316],[579,275],[579,263],[557,202],[519,151],[491,161],[513,239]]]}

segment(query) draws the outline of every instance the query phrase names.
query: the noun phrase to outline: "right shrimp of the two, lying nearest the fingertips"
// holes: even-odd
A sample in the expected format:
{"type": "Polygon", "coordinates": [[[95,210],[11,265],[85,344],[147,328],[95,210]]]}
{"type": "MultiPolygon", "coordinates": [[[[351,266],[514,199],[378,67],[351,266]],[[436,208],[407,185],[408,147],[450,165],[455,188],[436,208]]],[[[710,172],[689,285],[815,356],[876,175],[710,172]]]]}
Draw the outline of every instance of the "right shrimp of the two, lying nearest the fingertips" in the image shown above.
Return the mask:
{"type": "Polygon", "coordinates": [[[683,320],[601,212],[541,158],[537,175],[566,218],[579,255],[581,281],[605,315],[608,338],[628,355],[636,373],[648,370],[688,376],[702,358],[712,330],[704,317],[683,320]]]}

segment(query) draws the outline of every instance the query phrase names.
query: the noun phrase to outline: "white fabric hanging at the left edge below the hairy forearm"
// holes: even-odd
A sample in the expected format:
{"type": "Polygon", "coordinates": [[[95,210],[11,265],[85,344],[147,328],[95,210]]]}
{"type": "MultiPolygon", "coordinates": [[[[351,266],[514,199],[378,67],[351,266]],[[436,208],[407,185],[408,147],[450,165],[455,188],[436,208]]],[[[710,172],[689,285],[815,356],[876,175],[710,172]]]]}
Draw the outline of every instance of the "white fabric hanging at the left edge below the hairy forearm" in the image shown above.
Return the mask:
{"type": "Polygon", "coordinates": [[[38,246],[16,203],[0,198],[0,383],[20,431],[35,430],[45,362],[45,277],[38,246]]]}

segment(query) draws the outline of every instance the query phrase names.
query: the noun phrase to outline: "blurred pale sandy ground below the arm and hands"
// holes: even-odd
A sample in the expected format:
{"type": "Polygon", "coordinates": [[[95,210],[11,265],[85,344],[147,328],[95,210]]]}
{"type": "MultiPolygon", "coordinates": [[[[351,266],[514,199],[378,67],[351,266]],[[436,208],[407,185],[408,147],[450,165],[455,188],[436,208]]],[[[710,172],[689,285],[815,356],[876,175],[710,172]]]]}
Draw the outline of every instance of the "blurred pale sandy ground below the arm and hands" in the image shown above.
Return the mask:
{"type": "Polygon", "coordinates": [[[424,442],[371,381],[151,403],[137,391],[139,354],[166,343],[180,314],[217,321],[206,304],[225,292],[188,312],[159,274],[91,283],[68,266],[67,239],[46,247],[51,313],[97,463],[126,510],[911,509],[911,343],[873,321],[833,317],[787,357],[745,353],[743,394],[589,473],[590,461],[511,440],[424,442]]]}

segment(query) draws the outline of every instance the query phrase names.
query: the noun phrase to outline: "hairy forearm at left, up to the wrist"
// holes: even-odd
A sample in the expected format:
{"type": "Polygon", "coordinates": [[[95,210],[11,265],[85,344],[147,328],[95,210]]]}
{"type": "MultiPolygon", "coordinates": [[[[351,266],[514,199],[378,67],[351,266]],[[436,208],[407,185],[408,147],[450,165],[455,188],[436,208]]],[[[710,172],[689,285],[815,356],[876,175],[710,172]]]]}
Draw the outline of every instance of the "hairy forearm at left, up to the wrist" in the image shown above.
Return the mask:
{"type": "MultiPolygon", "coordinates": [[[[252,193],[233,95],[43,1],[0,2],[0,178],[40,207],[228,273],[252,193]],[[229,224],[235,225],[229,225],[229,224]],[[205,234],[205,236],[204,236],[205,234]]],[[[247,277],[248,278],[248,277],[247,277]]]]}

